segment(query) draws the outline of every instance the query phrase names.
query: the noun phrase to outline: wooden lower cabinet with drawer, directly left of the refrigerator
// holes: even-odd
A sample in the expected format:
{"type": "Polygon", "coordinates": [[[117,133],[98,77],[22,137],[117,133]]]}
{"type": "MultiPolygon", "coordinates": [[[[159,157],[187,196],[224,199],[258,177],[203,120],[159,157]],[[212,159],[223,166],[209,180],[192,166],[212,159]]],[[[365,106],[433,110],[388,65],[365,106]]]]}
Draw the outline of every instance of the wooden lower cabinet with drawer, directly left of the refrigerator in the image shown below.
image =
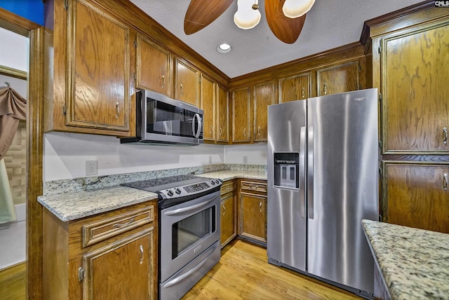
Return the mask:
{"type": "Polygon", "coordinates": [[[240,181],[239,236],[267,245],[267,182],[240,181]]]}

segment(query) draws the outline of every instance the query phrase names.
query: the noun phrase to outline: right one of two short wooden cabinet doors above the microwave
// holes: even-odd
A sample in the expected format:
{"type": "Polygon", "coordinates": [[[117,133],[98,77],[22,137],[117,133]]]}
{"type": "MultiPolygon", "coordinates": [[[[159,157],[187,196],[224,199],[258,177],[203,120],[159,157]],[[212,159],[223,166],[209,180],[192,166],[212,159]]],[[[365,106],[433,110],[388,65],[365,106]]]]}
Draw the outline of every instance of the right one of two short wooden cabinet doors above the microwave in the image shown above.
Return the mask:
{"type": "Polygon", "coordinates": [[[199,106],[199,71],[176,60],[176,99],[199,106]]]}

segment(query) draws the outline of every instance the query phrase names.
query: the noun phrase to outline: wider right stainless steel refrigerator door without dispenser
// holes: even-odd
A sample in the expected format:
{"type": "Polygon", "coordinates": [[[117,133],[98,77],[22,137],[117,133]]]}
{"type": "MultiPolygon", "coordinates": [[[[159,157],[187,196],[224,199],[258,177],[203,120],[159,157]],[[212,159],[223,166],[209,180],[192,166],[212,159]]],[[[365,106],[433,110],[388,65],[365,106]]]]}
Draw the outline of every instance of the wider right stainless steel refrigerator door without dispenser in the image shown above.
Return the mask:
{"type": "Polygon", "coordinates": [[[309,273],[373,293],[362,219],[378,219],[377,90],[310,98],[309,273]]]}

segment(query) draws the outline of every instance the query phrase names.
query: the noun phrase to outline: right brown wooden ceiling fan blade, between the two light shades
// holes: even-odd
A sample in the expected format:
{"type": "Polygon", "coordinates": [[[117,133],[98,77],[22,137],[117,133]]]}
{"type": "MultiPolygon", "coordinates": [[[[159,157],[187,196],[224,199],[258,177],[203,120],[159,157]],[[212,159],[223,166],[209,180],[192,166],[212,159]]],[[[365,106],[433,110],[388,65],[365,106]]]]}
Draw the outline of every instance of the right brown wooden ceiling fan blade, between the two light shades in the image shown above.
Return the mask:
{"type": "Polygon", "coordinates": [[[306,15],[300,18],[287,18],[282,12],[286,0],[265,0],[265,15],[269,29],[284,43],[295,43],[300,36],[306,15]]]}

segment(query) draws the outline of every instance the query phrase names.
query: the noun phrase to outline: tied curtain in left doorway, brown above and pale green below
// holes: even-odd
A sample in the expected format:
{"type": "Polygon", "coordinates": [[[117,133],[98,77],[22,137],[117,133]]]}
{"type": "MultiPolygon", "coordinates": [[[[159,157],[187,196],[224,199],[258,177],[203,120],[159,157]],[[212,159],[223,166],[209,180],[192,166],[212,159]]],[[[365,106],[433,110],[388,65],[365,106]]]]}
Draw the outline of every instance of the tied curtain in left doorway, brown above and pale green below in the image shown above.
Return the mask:
{"type": "Polygon", "coordinates": [[[3,157],[8,151],[19,120],[27,116],[27,100],[11,87],[0,88],[0,224],[17,219],[3,157]]]}

